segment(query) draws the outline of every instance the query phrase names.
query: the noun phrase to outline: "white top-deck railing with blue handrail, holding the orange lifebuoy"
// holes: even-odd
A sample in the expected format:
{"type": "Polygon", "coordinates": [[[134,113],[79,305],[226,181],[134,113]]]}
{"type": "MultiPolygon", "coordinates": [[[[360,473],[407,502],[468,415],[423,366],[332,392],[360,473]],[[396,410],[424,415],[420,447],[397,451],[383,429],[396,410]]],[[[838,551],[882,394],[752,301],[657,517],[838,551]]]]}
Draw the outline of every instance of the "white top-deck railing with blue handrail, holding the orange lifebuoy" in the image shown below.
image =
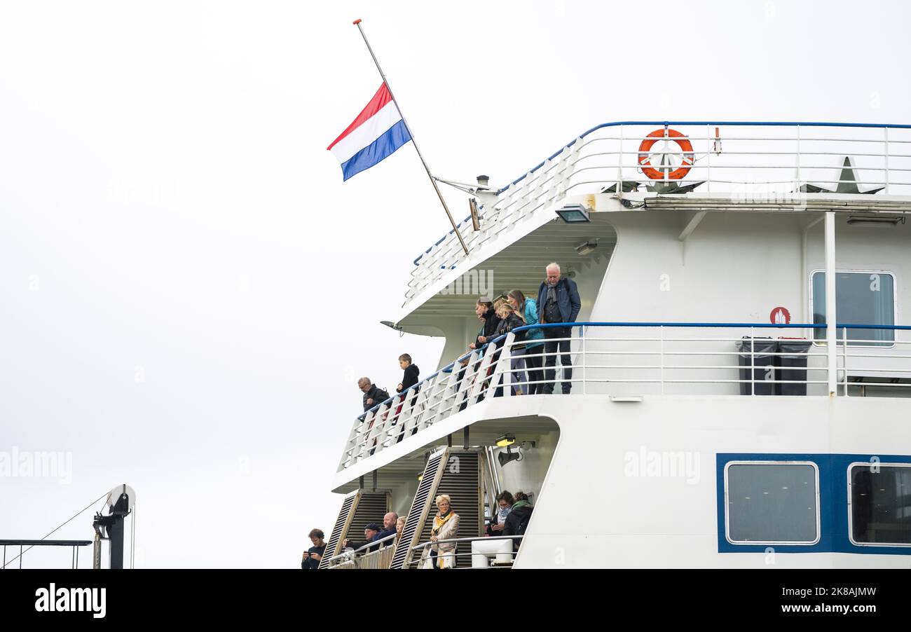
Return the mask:
{"type": "MultiPolygon", "coordinates": [[[[672,194],[677,185],[696,185],[701,192],[746,208],[755,204],[804,207],[808,191],[874,192],[911,196],[911,126],[863,123],[747,121],[622,121],[593,127],[573,138],[507,187],[483,199],[480,229],[470,219],[458,225],[472,252],[538,213],[552,215],[567,195],[609,191],[672,194]],[[650,133],[665,127],[689,143],[684,152],[671,138],[655,140],[650,133]],[[664,158],[660,158],[664,157],[664,158]],[[685,162],[683,162],[685,158],[685,162]],[[844,159],[852,170],[844,170],[844,159]],[[664,159],[662,165],[660,159],[664,159]],[[648,165],[643,165],[649,160],[648,165]],[[654,168],[649,178],[644,167],[654,168]],[[671,178],[675,168],[689,167],[684,178],[671,178]],[[807,188],[809,185],[809,188],[807,188]]],[[[812,195],[812,193],[810,194],[812,195]]],[[[455,232],[415,259],[404,304],[465,263],[455,232]]]]}

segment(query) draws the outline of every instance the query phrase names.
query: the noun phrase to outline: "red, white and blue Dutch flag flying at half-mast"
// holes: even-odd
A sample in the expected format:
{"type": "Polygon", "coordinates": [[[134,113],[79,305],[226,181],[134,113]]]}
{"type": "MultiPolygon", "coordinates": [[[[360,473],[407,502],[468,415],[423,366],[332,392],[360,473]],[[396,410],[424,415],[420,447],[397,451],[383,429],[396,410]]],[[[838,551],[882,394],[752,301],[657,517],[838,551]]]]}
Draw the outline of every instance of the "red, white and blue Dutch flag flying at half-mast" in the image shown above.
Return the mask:
{"type": "Polygon", "coordinates": [[[373,167],[411,140],[385,83],[327,149],[342,163],[344,179],[373,167]]]}

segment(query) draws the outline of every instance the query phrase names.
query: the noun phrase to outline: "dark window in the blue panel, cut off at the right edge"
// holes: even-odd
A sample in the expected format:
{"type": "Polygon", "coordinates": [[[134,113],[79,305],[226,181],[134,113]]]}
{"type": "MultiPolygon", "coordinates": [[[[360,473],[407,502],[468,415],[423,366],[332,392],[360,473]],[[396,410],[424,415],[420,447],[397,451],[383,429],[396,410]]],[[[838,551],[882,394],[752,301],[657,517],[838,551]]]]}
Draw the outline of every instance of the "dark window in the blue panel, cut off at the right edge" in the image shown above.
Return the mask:
{"type": "Polygon", "coordinates": [[[851,542],[911,545],[911,465],[853,464],[851,542]]]}

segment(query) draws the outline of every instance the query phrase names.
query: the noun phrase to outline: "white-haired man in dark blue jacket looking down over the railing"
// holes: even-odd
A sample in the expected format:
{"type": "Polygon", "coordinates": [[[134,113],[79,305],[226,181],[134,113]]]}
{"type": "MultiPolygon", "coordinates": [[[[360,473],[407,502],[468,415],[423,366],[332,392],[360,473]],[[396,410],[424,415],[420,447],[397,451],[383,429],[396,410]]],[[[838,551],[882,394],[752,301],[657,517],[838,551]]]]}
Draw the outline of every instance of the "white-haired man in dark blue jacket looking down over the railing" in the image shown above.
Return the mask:
{"type": "MultiPolygon", "coordinates": [[[[582,301],[578,298],[576,281],[564,277],[560,267],[551,263],[547,270],[548,279],[541,283],[537,289],[537,321],[538,322],[576,322],[582,301]]],[[[563,365],[562,382],[563,394],[568,394],[572,388],[572,360],[569,357],[569,336],[572,327],[546,327],[544,328],[544,392],[554,392],[554,378],[557,373],[557,352],[559,349],[560,363],[563,365]],[[555,338],[566,338],[564,341],[554,341],[555,338]],[[553,355],[551,355],[553,354],[553,355]]]]}

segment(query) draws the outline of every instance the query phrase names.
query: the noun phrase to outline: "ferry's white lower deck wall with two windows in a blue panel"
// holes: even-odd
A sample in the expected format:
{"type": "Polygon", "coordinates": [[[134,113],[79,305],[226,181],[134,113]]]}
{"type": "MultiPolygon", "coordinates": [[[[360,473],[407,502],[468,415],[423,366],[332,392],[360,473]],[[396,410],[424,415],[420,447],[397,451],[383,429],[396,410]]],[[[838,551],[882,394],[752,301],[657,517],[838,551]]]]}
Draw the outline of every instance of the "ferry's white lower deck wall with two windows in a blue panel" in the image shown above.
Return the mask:
{"type": "Polygon", "coordinates": [[[527,449],[498,484],[534,505],[515,567],[906,567],[909,418],[903,398],[492,399],[387,448],[403,454],[375,482],[410,506],[403,473],[416,486],[426,452],[511,433],[527,449]]]}

